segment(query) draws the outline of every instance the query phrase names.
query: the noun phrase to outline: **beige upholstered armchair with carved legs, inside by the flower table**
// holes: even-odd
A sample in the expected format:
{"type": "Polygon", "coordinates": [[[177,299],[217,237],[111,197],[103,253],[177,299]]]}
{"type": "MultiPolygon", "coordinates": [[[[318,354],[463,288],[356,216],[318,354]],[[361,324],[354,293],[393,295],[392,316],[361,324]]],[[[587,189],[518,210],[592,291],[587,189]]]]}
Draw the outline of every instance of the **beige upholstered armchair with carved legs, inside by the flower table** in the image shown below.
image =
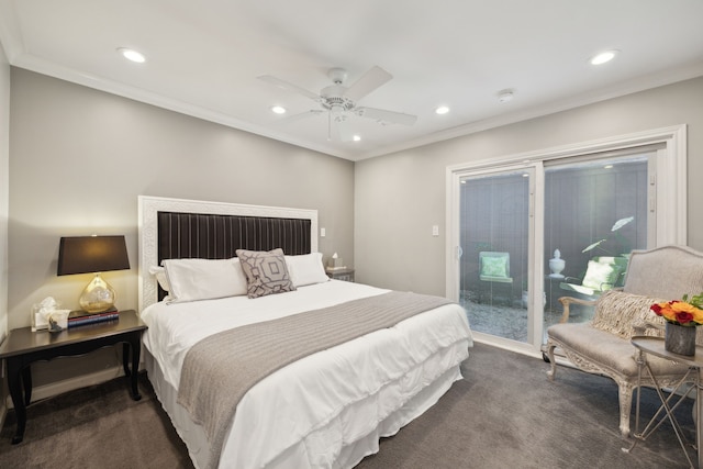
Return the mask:
{"type": "MultiPolygon", "coordinates": [[[[649,311],[655,302],[681,299],[683,294],[703,291],[703,253],[687,246],[663,246],[651,250],[634,250],[629,256],[622,289],[613,289],[596,300],[560,298],[565,305],[559,324],[547,328],[547,355],[551,364],[547,372],[554,380],[557,370],[555,348],[583,371],[604,375],[617,383],[620,431],[629,435],[629,415],[634,388],[638,382],[636,348],[633,335],[663,335],[663,320],[649,311]],[[569,323],[569,304],[593,304],[593,320],[569,323]]],[[[703,345],[703,326],[698,328],[696,343],[703,345]]],[[[649,356],[647,358],[661,387],[671,387],[688,367],[649,356]]],[[[654,387],[647,373],[641,384],[654,387]]]]}

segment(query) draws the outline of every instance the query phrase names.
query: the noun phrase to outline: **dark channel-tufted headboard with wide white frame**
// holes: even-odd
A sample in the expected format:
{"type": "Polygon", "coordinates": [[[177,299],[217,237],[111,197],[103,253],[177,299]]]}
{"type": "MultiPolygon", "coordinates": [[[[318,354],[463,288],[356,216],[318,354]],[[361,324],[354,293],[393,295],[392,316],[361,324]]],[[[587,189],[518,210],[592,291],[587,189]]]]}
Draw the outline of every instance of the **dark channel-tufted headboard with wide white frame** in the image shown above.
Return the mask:
{"type": "Polygon", "coordinates": [[[164,259],[225,259],[236,249],[317,250],[317,211],[140,197],[140,311],[164,292],[148,272],[164,259]]]}

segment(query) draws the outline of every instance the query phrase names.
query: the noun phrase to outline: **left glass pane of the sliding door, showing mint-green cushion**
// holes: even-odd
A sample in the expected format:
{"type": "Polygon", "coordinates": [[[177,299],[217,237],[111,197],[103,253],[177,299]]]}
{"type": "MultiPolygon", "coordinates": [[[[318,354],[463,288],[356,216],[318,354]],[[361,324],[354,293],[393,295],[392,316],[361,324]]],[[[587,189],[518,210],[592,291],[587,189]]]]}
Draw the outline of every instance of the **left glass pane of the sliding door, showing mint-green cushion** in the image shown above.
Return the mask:
{"type": "Polygon", "coordinates": [[[473,331],[527,342],[529,170],[459,181],[459,301],[473,331]]]}

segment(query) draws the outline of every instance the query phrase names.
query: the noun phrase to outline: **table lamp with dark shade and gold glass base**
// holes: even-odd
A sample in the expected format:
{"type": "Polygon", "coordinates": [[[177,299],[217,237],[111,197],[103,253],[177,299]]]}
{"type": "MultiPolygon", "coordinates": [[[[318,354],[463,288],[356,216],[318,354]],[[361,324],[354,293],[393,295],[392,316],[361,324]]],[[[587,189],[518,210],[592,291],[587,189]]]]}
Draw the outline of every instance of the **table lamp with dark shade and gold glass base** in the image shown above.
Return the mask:
{"type": "Polygon", "coordinates": [[[62,237],[56,275],[96,275],[78,299],[80,308],[88,313],[114,309],[114,289],[100,277],[100,272],[129,268],[124,236],[62,237]]]}

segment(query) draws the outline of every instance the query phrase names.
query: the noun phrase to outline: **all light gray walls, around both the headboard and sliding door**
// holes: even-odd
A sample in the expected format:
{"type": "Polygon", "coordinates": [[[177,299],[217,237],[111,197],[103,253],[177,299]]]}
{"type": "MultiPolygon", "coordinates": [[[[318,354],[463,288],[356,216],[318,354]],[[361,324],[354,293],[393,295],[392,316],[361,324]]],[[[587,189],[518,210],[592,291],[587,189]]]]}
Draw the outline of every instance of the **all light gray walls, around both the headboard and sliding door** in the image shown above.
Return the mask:
{"type": "MultiPolygon", "coordinates": [[[[0,69],[8,70],[5,64],[0,69]]],[[[0,74],[3,103],[7,75],[0,74]]],[[[56,277],[64,235],[125,234],[132,270],[105,278],[118,290],[118,306],[136,308],[138,194],[317,209],[327,233],[320,249],[354,264],[359,281],[444,294],[448,165],[683,123],[689,245],[703,250],[695,204],[703,197],[696,183],[703,176],[703,78],[356,165],[23,69],[11,68],[10,78],[9,157],[0,116],[0,167],[9,158],[10,175],[9,211],[0,193],[0,220],[3,210],[9,214],[2,286],[9,284],[10,328],[29,325],[31,304],[47,295],[77,305],[89,277],[56,277]],[[432,236],[432,225],[439,236],[432,236]]],[[[0,290],[0,328],[1,300],[0,290]]],[[[44,381],[67,376],[42,373],[44,381]]]]}

